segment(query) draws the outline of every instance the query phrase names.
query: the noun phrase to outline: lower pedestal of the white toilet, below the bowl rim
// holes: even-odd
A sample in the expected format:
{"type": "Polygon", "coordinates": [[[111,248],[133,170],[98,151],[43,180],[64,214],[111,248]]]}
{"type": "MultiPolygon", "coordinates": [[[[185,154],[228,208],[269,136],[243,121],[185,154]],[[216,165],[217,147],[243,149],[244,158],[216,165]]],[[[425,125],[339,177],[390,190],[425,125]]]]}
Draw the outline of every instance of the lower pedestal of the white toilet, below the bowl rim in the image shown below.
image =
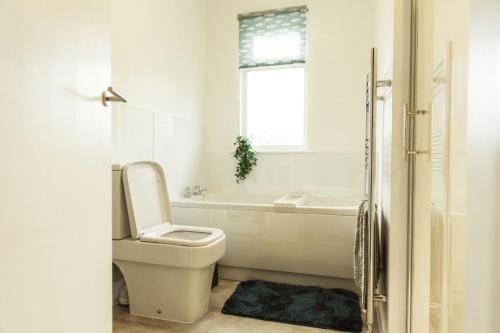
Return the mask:
{"type": "Polygon", "coordinates": [[[125,277],[131,314],[193,323],[208,311],[215,263],[202,268],[114,263],[125,277]]]}

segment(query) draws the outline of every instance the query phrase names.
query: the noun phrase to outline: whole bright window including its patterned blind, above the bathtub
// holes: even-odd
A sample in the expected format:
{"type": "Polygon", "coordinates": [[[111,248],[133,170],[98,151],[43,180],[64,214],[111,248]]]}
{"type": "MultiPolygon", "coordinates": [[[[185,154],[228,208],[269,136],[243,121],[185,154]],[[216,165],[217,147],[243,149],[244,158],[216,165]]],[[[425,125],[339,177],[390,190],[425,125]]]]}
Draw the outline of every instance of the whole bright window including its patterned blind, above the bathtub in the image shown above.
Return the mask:
{"type": "Polygon", "coordinates": [[[242,134],[259,151],[306,149],[306,12],[239,17],[242,134]]]}

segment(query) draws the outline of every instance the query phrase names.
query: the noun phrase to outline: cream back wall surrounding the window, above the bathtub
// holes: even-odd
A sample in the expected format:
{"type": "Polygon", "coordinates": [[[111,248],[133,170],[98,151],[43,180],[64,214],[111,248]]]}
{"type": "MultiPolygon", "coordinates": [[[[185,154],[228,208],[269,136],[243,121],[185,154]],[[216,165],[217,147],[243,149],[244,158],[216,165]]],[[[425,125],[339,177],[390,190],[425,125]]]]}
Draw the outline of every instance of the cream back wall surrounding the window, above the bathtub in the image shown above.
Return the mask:
{"type": "Polygon", "coordinates": [[[372,46],[372,1],[211,0],[208,2],[208,187],[246,191],[364,190],[365,80],[372,46]],[[307,122],[310,152],[260,153],[243,184],[234,180],[240,131],[239,13],[306,4],[307,122]]]}

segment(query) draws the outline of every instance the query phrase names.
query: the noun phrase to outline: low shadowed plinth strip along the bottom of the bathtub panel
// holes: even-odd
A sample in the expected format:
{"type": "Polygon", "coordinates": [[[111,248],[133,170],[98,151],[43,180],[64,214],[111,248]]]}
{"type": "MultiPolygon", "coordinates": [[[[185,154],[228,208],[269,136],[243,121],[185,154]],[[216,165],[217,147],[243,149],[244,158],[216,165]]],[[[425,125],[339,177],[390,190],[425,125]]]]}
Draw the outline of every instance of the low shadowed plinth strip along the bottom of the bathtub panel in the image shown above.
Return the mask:
{"type": "Polygon", "coordinates": [[[261,269],[219,266],[219,278],[233,281],[264,280],[288,284],[301,284],[322,288],[343,288],[359,293],[353,280],[326,276],[306,275],[287,272],[267,271],[261,269]]]}

